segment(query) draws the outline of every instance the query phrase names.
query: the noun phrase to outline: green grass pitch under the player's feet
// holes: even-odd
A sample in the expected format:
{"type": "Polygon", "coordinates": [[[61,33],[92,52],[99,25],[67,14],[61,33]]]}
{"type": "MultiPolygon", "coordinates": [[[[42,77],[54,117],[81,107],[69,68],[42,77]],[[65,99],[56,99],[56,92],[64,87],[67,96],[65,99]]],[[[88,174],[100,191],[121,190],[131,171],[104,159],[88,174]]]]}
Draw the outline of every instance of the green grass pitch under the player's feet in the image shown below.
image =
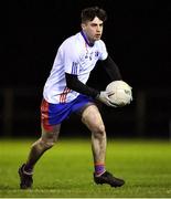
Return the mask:
{"type": "Polygon", "coordinates": [[[33,140],[0,140],[0,198],[170,198],[171,143],[111,140],[106,166],[126,185],[111,188],[93,181],[89,139],[61,138],[35,167],[32,190],[19,189],[18,168],[33,140]]]}

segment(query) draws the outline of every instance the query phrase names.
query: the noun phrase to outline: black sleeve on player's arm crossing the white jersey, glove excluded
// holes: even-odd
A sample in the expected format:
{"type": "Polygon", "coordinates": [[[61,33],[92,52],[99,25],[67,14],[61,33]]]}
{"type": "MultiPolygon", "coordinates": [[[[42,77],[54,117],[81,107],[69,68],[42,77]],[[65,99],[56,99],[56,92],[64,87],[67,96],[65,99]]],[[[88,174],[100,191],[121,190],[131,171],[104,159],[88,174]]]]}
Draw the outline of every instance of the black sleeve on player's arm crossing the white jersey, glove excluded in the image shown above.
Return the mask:
{"type": "Polygon", "coordinates": [[[84,95],[88,95],[92,97],[96,97],[99,95],[99,92],[97,90],[94,90],[93,87],[89,87],[85,84],[83,84],[78,78],[77,75],[65,73],[66,77],[66,86],[73,91],[76,91],[78,93],[82,93],[84,95]]]}

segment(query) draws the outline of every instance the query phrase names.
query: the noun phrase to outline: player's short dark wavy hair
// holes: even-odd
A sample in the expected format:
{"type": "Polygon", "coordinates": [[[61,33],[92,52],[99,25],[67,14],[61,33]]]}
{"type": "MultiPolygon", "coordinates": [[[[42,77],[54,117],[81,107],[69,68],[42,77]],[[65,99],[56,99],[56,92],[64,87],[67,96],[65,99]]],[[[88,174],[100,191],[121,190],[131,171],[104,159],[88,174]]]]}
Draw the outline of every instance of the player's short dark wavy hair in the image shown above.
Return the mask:
{"type": "Polygon", "coordinates": [[[106,11],[98,7],[89,7],[89,8],[82,10],[82,14],[81,14],[82,23],[84,23],[86,21],[93,21],[95,17],[100,19],[103,22],[105,22],[107,20],[106,11]]]}

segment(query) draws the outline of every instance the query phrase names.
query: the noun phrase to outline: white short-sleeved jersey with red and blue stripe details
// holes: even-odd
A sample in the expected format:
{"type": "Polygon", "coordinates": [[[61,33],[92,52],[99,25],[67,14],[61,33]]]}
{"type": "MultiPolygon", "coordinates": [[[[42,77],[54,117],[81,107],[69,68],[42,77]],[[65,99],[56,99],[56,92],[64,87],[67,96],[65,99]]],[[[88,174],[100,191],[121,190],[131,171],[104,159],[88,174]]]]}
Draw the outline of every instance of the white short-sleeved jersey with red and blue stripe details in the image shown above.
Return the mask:
{"type": "Polygon", "coordinates": [[[107,50],[101,40],[93,46],[86,42],[83,32],[66,39],[58,48],[50,76],[44,85],[43,97],[52,104],[68,103],[79,93],[66,86],[65,73],[77,75],[86,84],[90,71],[98,60],[106,60],[107,50]]]}

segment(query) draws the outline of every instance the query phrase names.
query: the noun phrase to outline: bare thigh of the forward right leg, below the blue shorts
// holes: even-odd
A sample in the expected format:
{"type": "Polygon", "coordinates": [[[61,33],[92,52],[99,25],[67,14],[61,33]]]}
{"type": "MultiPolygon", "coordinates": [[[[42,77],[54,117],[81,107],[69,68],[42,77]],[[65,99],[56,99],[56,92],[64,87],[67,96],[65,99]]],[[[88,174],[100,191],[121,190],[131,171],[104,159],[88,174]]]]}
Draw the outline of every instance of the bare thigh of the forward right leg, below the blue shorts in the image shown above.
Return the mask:
{"type": "Polygon", "coordinates": [[[84,109],[82,113],[82,122],[93,133],[105,133],[104,122],[96,105],[89,105],[84,109]]]}

